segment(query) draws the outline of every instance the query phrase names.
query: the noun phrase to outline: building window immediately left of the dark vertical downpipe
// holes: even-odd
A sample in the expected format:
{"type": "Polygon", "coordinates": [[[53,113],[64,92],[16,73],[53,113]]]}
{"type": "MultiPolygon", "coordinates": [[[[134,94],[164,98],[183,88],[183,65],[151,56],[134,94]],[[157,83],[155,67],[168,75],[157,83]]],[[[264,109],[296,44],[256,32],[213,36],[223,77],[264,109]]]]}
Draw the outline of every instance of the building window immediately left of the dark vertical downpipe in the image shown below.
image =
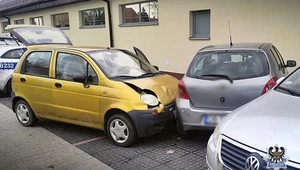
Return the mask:
{"type": "Polygon", "coordinates": [[[104,8],[81,11],[82,26],[104,26],[104,8]]]}

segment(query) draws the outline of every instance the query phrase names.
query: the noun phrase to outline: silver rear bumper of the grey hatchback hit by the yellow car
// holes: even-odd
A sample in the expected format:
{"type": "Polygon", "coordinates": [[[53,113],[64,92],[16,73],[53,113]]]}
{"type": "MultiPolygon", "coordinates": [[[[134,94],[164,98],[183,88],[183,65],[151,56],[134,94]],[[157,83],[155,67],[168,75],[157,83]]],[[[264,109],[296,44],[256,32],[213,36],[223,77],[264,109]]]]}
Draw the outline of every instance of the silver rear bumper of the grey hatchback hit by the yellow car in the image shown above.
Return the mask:
{"type": "Polygon", "coordinates": [[[221,115],[225,116],[232,112],[232,110],[214,110],[195,108],[187,99],[176,99],[176,110],[179,120],[179,125],[184,131],[188,130],[212,130],[216,127],[215,124],[205,124],[204,115],[221,115]]]}

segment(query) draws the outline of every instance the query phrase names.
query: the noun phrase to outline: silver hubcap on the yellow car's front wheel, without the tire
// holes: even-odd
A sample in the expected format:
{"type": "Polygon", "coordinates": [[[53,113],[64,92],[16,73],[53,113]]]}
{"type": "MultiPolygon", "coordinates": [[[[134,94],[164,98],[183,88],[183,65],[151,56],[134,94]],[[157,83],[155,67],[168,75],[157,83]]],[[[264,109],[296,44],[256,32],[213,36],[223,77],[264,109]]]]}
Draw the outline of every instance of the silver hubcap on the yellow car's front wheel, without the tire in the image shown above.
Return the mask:
{"type": "Polygon", "coordinates": [[[109,131],[112,138],[118,143],[124,143],[129,136],[129,130],[126,124],[120,119],[114,119],[109,125],[109,131]]]}

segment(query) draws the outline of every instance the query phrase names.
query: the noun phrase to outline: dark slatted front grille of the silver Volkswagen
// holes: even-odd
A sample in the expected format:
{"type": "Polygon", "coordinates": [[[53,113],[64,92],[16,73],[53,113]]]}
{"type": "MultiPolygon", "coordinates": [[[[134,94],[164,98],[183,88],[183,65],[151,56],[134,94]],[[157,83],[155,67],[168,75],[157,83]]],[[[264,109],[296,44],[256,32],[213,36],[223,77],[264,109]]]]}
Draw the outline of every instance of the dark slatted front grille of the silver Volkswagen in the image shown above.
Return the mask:
{"type": "MultiPolygon", "coordinates": [[[[250,155],[250,153],[251,152],[245,149],[242,149],[225,140],[222,140],[221,159],[223,163],[230,169],[234,169],[234,170],[245,169],[245,161],[250,155]]],[[[296,170],[297,168],[287,166],[287,169],[296,170]]]]}

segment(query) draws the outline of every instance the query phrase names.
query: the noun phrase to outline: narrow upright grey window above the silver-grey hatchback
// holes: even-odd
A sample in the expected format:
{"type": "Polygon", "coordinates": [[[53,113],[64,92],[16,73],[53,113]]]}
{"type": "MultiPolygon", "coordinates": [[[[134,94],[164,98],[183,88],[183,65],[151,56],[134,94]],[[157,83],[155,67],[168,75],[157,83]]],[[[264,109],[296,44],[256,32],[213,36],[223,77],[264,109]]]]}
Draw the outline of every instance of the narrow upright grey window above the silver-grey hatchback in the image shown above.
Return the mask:
{"type": "Polygon", "coordinates": [[[192,12],[192,38],[210,39],[210,10],[192,12]]]}

